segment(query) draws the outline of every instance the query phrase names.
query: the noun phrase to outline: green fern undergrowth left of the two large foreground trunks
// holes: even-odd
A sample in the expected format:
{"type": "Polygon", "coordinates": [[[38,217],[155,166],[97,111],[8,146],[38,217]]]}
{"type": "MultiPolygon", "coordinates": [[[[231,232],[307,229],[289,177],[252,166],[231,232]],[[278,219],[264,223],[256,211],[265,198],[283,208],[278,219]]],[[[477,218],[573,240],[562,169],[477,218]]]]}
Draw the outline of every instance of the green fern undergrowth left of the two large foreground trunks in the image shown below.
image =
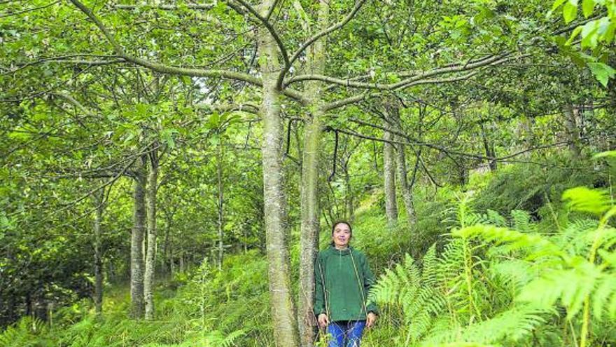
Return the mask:
{"type": "Polygon", "coordinates": [[[257,252],[227,257],[223,271],[204,261],[158,286],[153,321],[127,318],[129,302],[127,287],[112,287],[101,316],[80,302],[57,311],[52,325],[22,318],[0,346],[267,346],[272,336],[267,267],[257,252]]]}

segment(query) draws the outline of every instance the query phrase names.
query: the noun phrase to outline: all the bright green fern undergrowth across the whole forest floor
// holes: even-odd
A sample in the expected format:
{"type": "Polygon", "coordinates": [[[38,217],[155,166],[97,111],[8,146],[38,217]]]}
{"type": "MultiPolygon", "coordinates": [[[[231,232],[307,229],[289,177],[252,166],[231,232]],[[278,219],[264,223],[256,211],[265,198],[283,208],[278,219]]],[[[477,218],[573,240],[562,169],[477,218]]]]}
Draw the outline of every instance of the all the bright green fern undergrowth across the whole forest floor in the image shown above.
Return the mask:
{"type": "MultiPolygon", "coordinates": [[[[510,165],[472,176],[464,191],[417,186],[416,222],[407,224],[400,201],[393,229],[378,198],[370,198],[353,220],[351,242],[381,278],[372,293],[381,316],[362,346],[582,347],[582,327],[584,347],[616,346],[613,224],[607,218],[609,232],[597,245],[589,235],[608,212],[591,203],[593,190],[568,191],[561,200],[567,188],[607,181],[597,172],[570,173],[510,165]]],[[[601,194],[610,205],[609,194],[601,194]]],[[[329,228],[321,231],[321,249],[329,228]]],[[[161,281],[154,321],[127,318],[129,303],[127,286],[111,286],[101,316],[79,301],[57,310],[51,322],[23,318],[0,334],[0,346],[274,345],[267,261],[257,251],[228,254],[222,271],[204,259],[161,281]]]]}

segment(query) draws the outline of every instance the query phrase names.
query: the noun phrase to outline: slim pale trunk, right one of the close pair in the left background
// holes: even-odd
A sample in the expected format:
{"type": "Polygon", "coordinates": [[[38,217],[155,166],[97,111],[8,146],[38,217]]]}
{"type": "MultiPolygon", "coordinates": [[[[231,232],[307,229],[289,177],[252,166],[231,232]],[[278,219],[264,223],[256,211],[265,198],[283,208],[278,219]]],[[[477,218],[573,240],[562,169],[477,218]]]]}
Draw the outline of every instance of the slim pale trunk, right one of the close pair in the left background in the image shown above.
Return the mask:
{"type": "MultiPolygon", "coordinates": [[[[154,144],[153,146],[158,146],[154,144]]],[[[146,200],[148,203],[148,248],[146,252],[146,276],[144,278],[144,297],[146,299],[146,320],[154,319],[154,274],[156,269],[156,191],[158,191],[158,152],[150,154],[150,170],[146,200]]]]}

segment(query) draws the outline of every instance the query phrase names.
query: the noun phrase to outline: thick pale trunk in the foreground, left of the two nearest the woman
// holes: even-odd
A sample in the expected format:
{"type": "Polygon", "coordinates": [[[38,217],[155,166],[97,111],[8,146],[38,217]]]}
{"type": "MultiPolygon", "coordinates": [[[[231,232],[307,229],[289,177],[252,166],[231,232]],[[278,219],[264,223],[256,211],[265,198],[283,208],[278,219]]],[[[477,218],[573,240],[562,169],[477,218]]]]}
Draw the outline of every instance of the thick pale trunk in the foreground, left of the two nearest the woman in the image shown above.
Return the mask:
{"type": "MultiPolygon", "coordinates": [[[[266,15],[272,4],[272,0],[261,4],[262,15],[266,15]]],[[[281,152],[283,125],[280,118],[280,90],[276,88],[276,79],[281,67],[274,39],[264,27],[258,29],[258,53],[263,81],[261,105],[263,200],[269,304],[272,310],[276,346],[297,347],[299,336],[290,285],[290,262],[286,242],[286,198],[283,188],[281,152]]]]}

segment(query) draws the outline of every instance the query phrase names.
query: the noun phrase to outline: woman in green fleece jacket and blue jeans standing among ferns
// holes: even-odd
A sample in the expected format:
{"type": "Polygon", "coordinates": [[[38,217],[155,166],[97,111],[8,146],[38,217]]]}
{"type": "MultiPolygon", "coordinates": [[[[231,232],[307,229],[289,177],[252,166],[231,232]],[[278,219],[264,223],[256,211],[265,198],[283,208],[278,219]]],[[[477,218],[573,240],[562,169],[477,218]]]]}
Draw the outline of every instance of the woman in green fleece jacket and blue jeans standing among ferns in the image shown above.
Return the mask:
{"type": "Polygon", "coordinates": [[[367,259],[349,246],[351,224],[332,226],[332,243],[318,252],[314,264],[314,315],[332,336],[329,347],[359,347],[365,327],[377,320],[377,306],[367,302],[374,284],[367,259]]]}

